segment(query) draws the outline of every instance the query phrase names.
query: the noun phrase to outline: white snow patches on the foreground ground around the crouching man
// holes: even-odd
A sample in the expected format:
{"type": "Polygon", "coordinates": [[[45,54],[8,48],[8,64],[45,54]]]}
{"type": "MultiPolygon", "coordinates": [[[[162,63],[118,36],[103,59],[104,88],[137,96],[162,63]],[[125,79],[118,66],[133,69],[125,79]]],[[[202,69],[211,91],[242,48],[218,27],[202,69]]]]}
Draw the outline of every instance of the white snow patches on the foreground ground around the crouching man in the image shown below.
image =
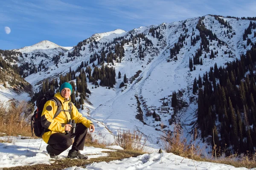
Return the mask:
{"type": "MultiPolygon", "coordinates": [[[[0,137],[0,140],[6,140],[7,137],[0,137]]],[[[46,143],[41,139],[23,139],[23,137],[10,137],[12,143],[0,143],[0,169],[16,166],[26,166],[35,164],[52,164],[55,159],[50,159],[46,151],[46,143]]],[[[100,156],[107,156],[102,151],[115,151],[122,149],[119,146],[111,146],[110,149],[96,147],[84,147],[81,151],[88,155],[89,159],[100,156]]],[[[59,159],[65,159],[68,150],[60,154],[59,159]]],[[[183,159],[183,157],[172,153],[150,153],[137,157],[131,157],[122,160],[99,162],[82,167],[69,167],[66,170],[248,170],[247,168],[236,168],[225,164],[216,164],[202,161],[193,161],[192,159],[183,159]]],[[[256,168],[250,169],[256,170],[256,168]]]]}

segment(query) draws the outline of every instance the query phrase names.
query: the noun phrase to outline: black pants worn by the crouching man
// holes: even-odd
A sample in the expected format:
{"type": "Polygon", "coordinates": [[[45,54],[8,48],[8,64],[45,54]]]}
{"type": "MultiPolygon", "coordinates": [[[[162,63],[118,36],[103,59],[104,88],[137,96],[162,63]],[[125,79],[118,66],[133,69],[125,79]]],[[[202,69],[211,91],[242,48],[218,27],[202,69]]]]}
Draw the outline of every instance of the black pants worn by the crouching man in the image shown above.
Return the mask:
{"type": "Polygon", "coordinates": [[[87,127],[82,123],[76,124],[75,133],[53,133],[48,141],[49,150],[55,155],[61,154],[64,150],[72,144],[72,138],[75,137],[72,149],[84,150],[84,142],[87,135],[87,127]]]}

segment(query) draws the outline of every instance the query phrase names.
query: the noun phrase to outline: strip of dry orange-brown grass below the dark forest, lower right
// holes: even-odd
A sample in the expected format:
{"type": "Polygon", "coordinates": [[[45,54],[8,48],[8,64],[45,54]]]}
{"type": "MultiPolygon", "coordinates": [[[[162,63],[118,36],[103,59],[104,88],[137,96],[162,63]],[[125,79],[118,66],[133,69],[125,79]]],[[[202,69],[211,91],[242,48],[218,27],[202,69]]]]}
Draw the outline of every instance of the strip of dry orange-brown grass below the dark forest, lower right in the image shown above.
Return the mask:
{"type": "MultiPolygon", "coordinates": [[[[185,158],[194,159],[195,161],[208,161],[221,164],[229,164],[234,167],[256,167],[256,153],[247,155],[230,155],[227,157],[222,156],[225,150],[217,150],[217,159],[215,159],[215,152],[212,152],[211,158],[206,158],[202,154],[202,149],[193,142],[187,142],[185,138],[182,138],[180,126],[175,126],[173,133],[168,133],[166,136],[161,136],[161,139],[165,145],[167,153],[174,153],[185,158]]],[[[194,139],[196,136],[193,136],[194,139]]],[[[194,142],[195,143],[195,142],[194,142]]]]}

